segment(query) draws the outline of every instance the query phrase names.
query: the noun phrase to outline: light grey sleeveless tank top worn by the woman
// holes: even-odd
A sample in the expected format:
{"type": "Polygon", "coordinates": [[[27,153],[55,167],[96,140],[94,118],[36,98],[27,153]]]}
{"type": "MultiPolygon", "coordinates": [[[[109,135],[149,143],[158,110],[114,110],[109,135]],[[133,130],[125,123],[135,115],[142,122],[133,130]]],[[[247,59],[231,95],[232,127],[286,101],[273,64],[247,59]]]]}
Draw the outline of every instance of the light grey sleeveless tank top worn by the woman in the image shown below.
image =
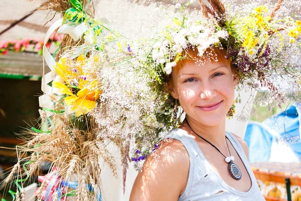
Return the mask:
{"type": "Polygon", "coordinates": [[[216,171],[212,169],[209,161],[203,155],[196,141],[182,129],[173,129],[166,138],[173,138],[182,142],[189,157],[190,167],[188,181],[179,201],[194,200],[243,200],[243,201],[264,201],[256,178],[247,160],[247,157],[237,139],[226,132],[226,137],[238,153],[247,172],[250,175],[252,186],[247,192],[239,191],[228,185],[216,171]]]}

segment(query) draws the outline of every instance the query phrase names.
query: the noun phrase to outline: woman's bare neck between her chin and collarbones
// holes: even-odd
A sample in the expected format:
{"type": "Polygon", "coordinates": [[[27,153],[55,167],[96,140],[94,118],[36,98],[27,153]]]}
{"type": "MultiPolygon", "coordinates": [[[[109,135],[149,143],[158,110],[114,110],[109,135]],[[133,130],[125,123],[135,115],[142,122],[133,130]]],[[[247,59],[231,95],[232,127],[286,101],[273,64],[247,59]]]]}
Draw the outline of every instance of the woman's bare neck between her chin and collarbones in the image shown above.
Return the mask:
{"type": "Polygon", "coordinates": [[[193,135],[195,140],[199,140],[201,136],[215,146],[225,146],[225,121],[216,126],[206,126],[187,116],[180,128],[193,135]]]}

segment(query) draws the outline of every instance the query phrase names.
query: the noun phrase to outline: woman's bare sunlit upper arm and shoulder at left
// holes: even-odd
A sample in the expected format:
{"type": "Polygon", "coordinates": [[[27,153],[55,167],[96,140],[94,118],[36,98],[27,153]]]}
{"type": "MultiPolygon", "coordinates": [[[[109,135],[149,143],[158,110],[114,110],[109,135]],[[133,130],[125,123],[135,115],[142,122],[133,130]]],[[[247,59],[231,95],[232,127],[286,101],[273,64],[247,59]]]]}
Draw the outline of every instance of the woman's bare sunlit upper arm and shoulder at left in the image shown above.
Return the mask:
{"type": "Polygon", "coordinates": [[[129,200],[178,200],[187,184],[189,165],[189,154],[180,141],[161,142],[138,173],[129,200]]]}

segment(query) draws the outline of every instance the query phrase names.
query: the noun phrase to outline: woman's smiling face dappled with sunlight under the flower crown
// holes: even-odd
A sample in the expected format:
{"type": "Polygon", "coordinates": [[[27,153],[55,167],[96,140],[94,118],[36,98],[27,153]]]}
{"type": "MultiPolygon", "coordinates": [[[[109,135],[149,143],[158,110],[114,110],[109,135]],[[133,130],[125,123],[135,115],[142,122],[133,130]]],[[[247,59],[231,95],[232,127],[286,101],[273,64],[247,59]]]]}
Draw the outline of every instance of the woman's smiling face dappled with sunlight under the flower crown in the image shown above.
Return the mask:
{"type": "Polygon", "coordinates": [[[225,120],[237,84],[229,64],[212,61],[203,65],[186,60],[178,72],[172,71],[172,79],[171,94],[179,99],[189,118],[206,126],[225,120]]]}

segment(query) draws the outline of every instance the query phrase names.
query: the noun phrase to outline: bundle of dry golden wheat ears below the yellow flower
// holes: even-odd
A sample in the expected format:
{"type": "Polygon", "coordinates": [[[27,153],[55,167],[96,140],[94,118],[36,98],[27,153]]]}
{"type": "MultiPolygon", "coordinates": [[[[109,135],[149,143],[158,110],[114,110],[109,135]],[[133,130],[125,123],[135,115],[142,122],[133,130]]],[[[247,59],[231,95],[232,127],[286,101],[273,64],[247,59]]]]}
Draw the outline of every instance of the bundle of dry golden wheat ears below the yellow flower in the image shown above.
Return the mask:
{"type": "MultiPolygon", "coordinates": [[[[96,193],[100,193],[101,165],[99,158],[103,158],[108,164],[112,173],[117,177],[116,162],[114,157],[105,148],[102,140],[97,140],[99,129],[91,117],[87,119],[74,119],[67,117],[62,121],[62,116],[53,116],[50,133],[35,132],[27,130],[26,135],[31,135],[25,146],[18,148],[20,153],[31,153],[26,158],[19,158],[19,162],[13,167],[10,175],[6,178],[4,185],[10,184],[16,178],[32,178],[38,175],[43,161],[48,161],[55,167],[58,177],[56,185],[77,181],[78,187],[75,189],[76,200],[95,200],[96,193]],[[23,165],[28,172],[23,171],[23,165]],[[22,173],[21,173],[22,172],[22,173]],[[75,180],[74,180],[75,179],[75,180]],[[87,186],[92,186],[90,190],[87,186]],[[93,191],[91,191],[93,189],[93,191]]],[[[52,177],[54,178],[54,176],[52,177]]],[[[21,182],[22,185],[22,182],[21,182]]],[[[49,183],[44,180],[37,191],[38,197],[43,197],[49,183]]],[[[64,185],[54,193],[71,192],[74,190],[68,185],[64,185]]],[[[22,189],[18,191],[17,198],[22,199],[22,189]]],[[[74,197],[74,196],[73,196],[74,197]]],[[[53,194],[55,198],[55,194],[53,194]]]]}

